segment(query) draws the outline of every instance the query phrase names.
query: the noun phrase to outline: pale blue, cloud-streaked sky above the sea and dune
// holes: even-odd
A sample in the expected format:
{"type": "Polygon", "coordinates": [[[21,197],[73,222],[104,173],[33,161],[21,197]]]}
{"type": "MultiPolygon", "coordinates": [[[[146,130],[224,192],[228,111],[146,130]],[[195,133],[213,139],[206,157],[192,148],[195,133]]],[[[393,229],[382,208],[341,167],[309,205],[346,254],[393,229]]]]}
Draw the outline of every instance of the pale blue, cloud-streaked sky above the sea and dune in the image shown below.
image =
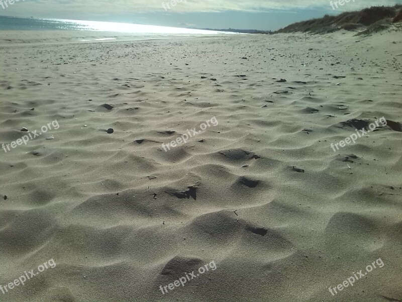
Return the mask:
{"type": "Polygon", "coordinates": [[[349,0],[334,10],[327,0],[19,0],[13,4],[10,1],[16,0],[0,0],[0,15],[259,30],[277,30],[325,14],[402,4],[402,0],[349,0]]]}

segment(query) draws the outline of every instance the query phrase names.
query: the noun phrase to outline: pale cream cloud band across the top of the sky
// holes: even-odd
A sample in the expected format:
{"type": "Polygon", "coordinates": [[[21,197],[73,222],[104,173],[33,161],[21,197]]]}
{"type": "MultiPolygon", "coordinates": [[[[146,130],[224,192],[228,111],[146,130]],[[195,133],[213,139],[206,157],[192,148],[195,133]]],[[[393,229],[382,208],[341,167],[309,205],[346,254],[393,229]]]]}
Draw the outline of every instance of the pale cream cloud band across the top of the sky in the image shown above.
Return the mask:
{"type": "MultiPolygon", "coordinates": [[[[177,0],[176,0],[177,1],[177,0]]],[[[342,10],[359,10],[374,5],[394,5],[402,0],[355,0],[339,7],[342,10]]],[[[196,13],[196,12],[271,12],[274,10],[330,9],[329,0],[181,0],[175,6],[168,0],[25,0],[15,3],[8,10],[50,13],[85,13],[86,15],[119,15],[138,13],[196,13]],[[163,4],[169,4],[165,10],[163,4]]],[[[8,12],[9,14],[9,12],[8,12]]]]}

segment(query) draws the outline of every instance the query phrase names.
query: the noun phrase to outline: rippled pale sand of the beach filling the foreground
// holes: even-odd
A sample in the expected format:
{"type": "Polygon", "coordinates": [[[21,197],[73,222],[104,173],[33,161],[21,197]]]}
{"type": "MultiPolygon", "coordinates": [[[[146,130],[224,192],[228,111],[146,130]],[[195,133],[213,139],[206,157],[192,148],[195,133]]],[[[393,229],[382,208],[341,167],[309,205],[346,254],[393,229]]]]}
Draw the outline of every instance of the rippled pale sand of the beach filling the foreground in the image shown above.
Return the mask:
{"type": "Polygon", "coordinates": [[[1,301],[402,299],[400,32],[0,37],[1,301]]]}

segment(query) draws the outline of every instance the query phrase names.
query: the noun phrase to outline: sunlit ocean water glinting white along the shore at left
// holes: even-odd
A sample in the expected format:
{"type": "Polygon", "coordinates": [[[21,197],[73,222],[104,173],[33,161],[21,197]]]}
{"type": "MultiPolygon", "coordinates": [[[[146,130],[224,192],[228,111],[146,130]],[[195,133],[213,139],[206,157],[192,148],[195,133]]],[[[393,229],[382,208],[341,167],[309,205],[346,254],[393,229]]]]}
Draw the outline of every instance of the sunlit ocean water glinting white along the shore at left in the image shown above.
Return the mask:
{"type": "Polygon", "coordinates": [[[230,34],[209,30],[188,28],[141,25],[130,23],[63,20],[63,19],[37,19],[0,16],[0,30],[89,30],[98,32],[118,32],[130,34],[160,34],[160,35],[216,35],[230,34]]]}

